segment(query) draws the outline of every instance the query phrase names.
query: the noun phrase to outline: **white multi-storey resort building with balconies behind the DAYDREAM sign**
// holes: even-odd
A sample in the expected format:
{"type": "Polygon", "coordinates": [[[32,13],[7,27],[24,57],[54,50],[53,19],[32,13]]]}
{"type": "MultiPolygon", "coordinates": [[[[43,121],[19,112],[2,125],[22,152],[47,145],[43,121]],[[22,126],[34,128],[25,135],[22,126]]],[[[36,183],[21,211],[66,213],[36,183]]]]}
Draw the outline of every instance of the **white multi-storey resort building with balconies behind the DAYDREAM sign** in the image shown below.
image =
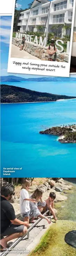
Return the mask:
{"type": "Polygon", "coordinates": [[[19,17],[20,32],[43,31],[55,32],[58,37],[71,33],[74,0],[34,0],[31,9],[21,12],[19,17]],[[49,10],[50,9],[50,10],[49,10]],[[49,24],[49,26],[48,26],[49,24]],[[69,29],[64,29],[64,24],[69,29]]]}

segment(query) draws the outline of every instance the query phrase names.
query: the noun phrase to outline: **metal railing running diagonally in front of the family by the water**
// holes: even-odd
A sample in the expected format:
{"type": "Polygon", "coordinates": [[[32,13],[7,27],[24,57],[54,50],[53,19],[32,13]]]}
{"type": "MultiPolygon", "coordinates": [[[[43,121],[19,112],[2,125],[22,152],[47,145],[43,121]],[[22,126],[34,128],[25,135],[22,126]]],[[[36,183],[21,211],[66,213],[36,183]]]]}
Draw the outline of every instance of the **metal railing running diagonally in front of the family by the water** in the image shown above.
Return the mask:
{"type": "MultiPolygon", "coordinates": [[[[49,212],[49,210],[47,210],[47,211],[43,214],[43,216],[45,216],[45,214],[47,214],[48,212],[49,212]]],[[[12,248],[14,248],[23,238],[25,238],[26,235],[27,235],[27,238],[29,238],[29,232],[32,230],[33,227],[36,226],[37,223],[40,222],[41,219],[42,219],[42,218],[37,219],[36,222],[34,222],[34,223],[32,224],[32,226],[28,228],[27,233],[26,233],[25,235],[23,235],[22,237],[19,237],[18,239],[16,239],[16,241],[15,241],[14,243],[12,243],[12,245],[11,245],[4,253],[2,253],[1,256],[6,256],[12,248]]]]}

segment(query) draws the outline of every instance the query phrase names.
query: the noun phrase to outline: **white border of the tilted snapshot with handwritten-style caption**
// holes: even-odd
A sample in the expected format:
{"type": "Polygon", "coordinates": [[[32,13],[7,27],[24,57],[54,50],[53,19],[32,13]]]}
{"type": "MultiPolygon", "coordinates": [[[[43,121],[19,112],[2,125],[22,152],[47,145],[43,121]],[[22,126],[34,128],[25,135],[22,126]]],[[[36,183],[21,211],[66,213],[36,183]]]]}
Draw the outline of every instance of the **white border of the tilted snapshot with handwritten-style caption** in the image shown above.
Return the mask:
{"type": "MultiPolygon", "coordinates": [[[[50,75],[50,71],[35,71],[32,70],[31,72],[29,70],[24,70],[21,68],[19,65],[14,65],[13,61],[15,62],[32,62],[32,63],[38,63],[38,64],[49,64],[51,65],[50,61],[42,61],[42,60],[33,60],[33,59],[20,59],[20,58],[12,58],[11,57],[11,45],[12,45],[12,33],[13,33],[13,24],[14,24],[14,12],[15,12],[15,0],[13,1],[13,8],[12,8],[12,21],[11,21],[11,33],[10,33],[10,45],[9,45],[9,56],[8,56],[8,73],[23,73],[23,74],[31,74],[31,75],[44,75],[44,76],[61,76],[61,77],[69,77],[69,72],[70,72],[70,60],[71,60],[71,48],[72,48],[72,40],[73,40],[73,28],[74,28],[74,16],[75,16],[75,5],[76,5],[76,0],[74,0],[74,5],[73,5],[73,17],[72,17],[72,24],[71,24],[71,36],[70,36],[70,47],[69,47],[69,61],[68,63],[66,62],[53,62],[52,65],[65,65],[65,68],[57,68],[55,73],[52,71],[50,75]],[[59,71],[59,72],[58,72],[59,71]]],[[[30,65],[29,65],[30,67],[30,65]]]]}

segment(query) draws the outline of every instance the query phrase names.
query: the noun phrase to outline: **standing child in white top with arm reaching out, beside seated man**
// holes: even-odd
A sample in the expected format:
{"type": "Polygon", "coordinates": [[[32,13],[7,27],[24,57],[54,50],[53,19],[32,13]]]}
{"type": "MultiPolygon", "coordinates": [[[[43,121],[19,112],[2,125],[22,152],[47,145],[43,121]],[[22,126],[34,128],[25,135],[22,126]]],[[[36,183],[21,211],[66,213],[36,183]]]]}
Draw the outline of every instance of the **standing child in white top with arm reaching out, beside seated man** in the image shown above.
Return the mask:
{"type": "Polygon", "coordinates": [[[20,191],[20,215],[24,218],[24,221],[28,222],[28,224],[30,214],[29,201],[36,203],[35,199],[29,199],[28,191],[30,186],[31,182],[29,180],[25,180],[20,191]]]}

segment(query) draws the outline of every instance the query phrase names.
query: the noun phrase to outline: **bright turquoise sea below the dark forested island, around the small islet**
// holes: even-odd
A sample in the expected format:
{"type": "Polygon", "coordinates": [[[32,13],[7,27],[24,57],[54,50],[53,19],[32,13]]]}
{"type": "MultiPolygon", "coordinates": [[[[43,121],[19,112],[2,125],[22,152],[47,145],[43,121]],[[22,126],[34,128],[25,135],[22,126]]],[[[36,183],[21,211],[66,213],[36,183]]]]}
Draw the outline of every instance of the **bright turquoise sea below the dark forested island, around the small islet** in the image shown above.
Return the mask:
{"type": "Polygon", "coordinates": [[[39,134],[63,124],[76,124],[76,99],[1,104],[1,176],[16,167],[12,177],[76,177],[76,144],[39,134]]]}

